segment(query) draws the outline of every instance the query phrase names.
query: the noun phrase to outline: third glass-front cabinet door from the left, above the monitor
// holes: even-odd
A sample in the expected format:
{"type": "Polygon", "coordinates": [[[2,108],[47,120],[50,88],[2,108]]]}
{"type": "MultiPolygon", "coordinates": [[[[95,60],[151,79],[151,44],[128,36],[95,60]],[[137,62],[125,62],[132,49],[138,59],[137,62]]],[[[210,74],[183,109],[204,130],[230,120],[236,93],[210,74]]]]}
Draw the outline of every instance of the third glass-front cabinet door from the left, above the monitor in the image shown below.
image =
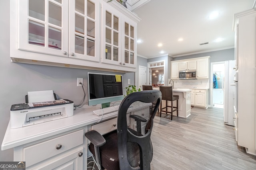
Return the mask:
{"type": "Polygon", "coordinates": [[[102,6],[102,63],[122,64],[121,16],[111,6],[102,6]]]}

